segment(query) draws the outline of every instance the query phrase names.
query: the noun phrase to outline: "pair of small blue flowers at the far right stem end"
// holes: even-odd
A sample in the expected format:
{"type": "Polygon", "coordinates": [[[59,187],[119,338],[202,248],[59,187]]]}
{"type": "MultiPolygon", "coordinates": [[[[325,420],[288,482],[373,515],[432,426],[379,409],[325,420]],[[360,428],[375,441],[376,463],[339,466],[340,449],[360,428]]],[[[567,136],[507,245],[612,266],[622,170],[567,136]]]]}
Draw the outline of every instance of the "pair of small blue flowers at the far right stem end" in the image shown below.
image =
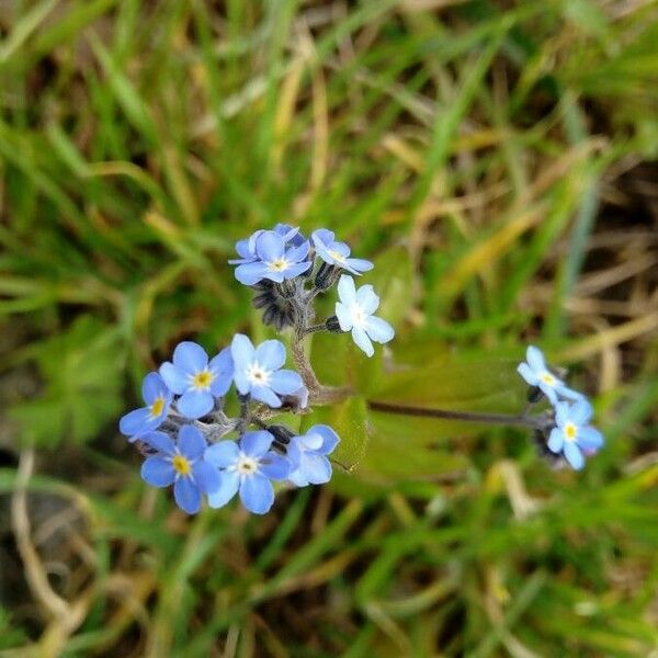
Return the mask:
{"type": "Polygon", "coordinates": [[[519,364],[519,374],[530,384],[527,398],[535,402],[546,396],[553,406],[545,428],[538,428],[540,439],[548,436],[546,446],[561,455],[576,469],[585,466],[585,458],[603,445],[603,435],[590,424],[592,406],[585,395],[569,388],[560,373],[546,364],[544,354],[530,345],[525,362],[519,364]]]}

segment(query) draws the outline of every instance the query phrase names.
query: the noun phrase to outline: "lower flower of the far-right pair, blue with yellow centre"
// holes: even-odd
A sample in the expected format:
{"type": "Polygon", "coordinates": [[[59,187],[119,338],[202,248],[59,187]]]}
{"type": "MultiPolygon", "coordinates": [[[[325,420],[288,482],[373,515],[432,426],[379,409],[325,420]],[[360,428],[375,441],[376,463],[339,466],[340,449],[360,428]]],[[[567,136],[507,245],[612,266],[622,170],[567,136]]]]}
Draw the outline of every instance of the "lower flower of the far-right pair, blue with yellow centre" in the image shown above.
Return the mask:
{"type": "Polygon", "coordinates": [[[585,456],[595,453],[603,445],[603,435],[591,427],[592,407],[586,399],[577,402],[557,402],[555,422],[557,427],[551,431],[548,449],[554,453],[563,453],[572,468],[579,470],[585,464],[585,456]]]}

